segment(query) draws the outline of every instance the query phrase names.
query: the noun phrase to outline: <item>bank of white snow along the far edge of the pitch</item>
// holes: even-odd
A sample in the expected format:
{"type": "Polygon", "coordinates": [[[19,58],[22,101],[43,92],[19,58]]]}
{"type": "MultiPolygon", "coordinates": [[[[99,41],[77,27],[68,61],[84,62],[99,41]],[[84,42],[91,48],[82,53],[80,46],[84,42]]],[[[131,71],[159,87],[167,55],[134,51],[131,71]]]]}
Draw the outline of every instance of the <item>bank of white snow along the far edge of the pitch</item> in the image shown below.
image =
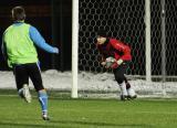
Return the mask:
{"type": "MultiPolygon", "coordinates": [[[[71,72],[59,72],[55,70],[49,70],[42,72],[42,79],[45,88],[71,90],[72,88],[72,73],[71,72]]],[[[0,88],[15,88],[15,82],[12,72],[0,71],[0,88]]],[[[147,83],[143,79],[129,81],[134,89],[139,95],[176,95],[177,84],[176,83],[147,83]]],[[[30,81],[30,87],[33,85],[30,81]]],[[[113,74],[102,73],[93,74],[81,72],[79,74],[79,90],[100,90],[100,92],[117,92],[119,87],[114,81],[113,74]]]]}

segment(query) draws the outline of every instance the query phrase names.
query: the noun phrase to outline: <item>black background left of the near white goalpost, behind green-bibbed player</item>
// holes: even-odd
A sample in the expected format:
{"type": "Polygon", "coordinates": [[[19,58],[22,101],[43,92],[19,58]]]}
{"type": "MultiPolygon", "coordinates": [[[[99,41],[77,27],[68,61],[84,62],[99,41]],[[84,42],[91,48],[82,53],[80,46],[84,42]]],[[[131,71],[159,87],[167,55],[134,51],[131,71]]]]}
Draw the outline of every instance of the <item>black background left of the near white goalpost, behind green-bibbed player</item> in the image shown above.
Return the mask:
{"type": "MultiPolygon", "coordinates": [[[[71,70],[71,0],[1,0],[0,1],[0,40],[3,31],[12,23],[11,9],[22,6],[25,9],[25,22],[35,26],[46,43],[60,49],[59,55],[53,55],[38,49],[42,70],[71,70]]],[[[1,44],[1,42],[0,42],[1,44]]],[[[0,52],[0,70],[9,70],[0,52]]]]}

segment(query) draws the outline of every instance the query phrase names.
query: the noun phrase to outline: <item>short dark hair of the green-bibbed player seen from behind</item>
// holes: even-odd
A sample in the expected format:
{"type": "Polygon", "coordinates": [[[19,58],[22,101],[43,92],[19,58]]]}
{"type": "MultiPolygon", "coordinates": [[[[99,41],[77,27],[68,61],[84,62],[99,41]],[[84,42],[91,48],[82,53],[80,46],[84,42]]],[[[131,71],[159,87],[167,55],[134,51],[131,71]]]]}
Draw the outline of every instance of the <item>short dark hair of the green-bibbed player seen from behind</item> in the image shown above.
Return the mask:
{"type": "Polygon", "coordinates": [[[24,8],[21,6],[14,7],[11,13],[12,13],[13,21],[22,21],[25,19],[25,11],[24,11],[24,8]]]}

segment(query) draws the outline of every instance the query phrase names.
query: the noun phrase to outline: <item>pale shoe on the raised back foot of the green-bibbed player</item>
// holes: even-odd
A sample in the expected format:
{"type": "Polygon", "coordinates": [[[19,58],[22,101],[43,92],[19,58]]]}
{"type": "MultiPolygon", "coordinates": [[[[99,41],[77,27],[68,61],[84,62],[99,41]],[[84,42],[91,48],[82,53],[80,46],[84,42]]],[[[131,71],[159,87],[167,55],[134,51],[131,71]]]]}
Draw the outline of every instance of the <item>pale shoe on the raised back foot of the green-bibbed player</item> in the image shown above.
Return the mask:
{"type": "Polygon", "coordinates": [[[30,94],[29,86],[27,84],[23,85],[22,95],[23,95],[27,103],[31,103],[31,94],[30,94]]]}

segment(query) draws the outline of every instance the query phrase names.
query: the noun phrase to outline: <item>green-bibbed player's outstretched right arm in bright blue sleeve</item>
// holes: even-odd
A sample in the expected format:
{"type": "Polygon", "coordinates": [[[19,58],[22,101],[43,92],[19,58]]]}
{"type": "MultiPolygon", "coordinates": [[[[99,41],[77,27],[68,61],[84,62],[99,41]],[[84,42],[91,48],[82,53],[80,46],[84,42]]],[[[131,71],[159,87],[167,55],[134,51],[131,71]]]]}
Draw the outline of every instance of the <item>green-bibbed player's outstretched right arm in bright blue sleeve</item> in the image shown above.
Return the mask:
{"type": "Polygon", "coordinates": [[[49,52],[49,53],[59,53],[59,49],[58,47],[53,47],[51,45],[49,45],[45,40],[42,38],[42,35],[40,34],[40,32],[34,28],[34,26],[30,26],[30,38],[31,40],[34,42],[35,45],[38,45],[40,49],[49,52]]]}

